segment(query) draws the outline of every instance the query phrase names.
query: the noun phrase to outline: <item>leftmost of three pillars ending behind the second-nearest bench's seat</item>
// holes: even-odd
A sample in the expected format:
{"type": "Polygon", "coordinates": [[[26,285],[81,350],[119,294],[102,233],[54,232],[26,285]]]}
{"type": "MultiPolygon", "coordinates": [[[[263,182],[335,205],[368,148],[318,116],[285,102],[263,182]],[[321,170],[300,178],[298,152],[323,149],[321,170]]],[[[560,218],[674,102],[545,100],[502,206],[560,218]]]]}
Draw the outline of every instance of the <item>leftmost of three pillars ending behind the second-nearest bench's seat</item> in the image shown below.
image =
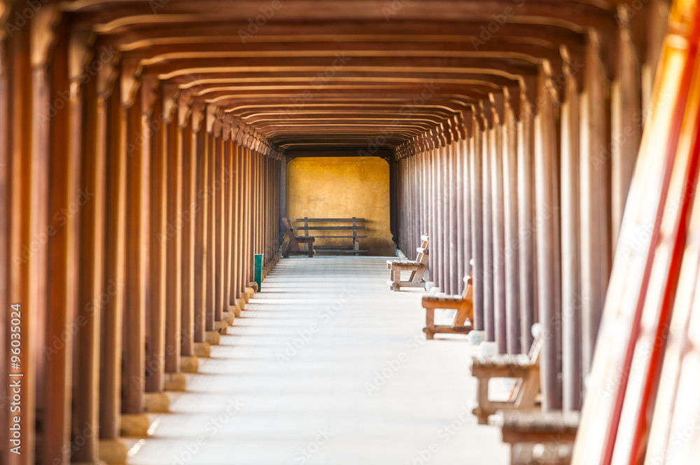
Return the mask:
{"type": "Polygon", "coordinates": [[[505,308],[505,213],[503,211],[503,95],[493,95],[493,129],[489,131],[491,163],[491,232],[493,279],[493,333],[498,352],[508,352],[505,308]]]}

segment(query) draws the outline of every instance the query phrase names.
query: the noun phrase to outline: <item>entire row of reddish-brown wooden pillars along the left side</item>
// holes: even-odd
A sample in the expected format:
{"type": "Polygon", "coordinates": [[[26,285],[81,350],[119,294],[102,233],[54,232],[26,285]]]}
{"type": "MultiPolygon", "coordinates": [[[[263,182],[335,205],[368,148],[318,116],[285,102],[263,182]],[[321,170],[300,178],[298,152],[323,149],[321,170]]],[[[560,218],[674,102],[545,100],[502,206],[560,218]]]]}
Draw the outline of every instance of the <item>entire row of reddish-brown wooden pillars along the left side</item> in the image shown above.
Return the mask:
{"type": "Polygon", "coordinates": [[[45,15],[0,43],[0,373],[21,382],[0,462],[119,463],[253,295],[253,255],[279,258],[281,160],[45,15]]]}

